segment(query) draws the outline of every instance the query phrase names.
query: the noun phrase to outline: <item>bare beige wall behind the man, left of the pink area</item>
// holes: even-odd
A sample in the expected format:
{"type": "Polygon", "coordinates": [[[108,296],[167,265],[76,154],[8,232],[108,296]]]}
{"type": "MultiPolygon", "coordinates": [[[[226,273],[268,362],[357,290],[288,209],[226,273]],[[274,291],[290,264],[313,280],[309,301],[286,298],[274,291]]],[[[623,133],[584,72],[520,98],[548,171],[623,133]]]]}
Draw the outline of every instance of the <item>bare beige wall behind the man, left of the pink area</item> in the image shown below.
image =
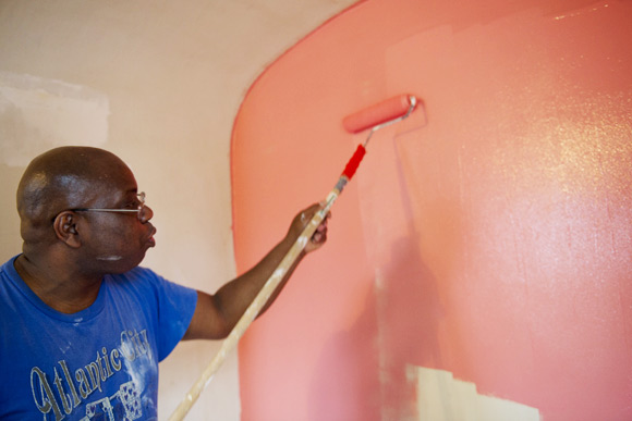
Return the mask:
{"type": "MultiPolygon", "coordinates": [[[[21,248],[14,191],[25,163],[72,143],[102,146],[135,172],[158,227],[144,265],[209,292],[231,278],[236,110],[268,63],[353,2],[0,2],[2,261],[21,248]]],[[[182,344],[162,363],[161,419],[218,347],[182,344]]],[[[239,407],[232,356],[189,419],[236,420],[239,407]]]]}

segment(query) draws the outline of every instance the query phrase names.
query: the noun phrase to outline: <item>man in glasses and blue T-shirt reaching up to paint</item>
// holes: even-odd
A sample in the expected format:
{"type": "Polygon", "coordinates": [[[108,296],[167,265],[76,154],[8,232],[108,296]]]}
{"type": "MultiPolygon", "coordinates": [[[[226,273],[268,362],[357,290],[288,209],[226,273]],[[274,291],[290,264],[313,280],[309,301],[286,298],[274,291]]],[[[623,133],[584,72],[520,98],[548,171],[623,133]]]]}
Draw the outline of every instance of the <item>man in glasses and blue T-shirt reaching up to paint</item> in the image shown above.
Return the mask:
{"type": "MultiPolygon", "coordinates": [[[[181,339],[226,337],[318,209],[209,295],[138,268],[154,212],[123,161],[88,147],[37,157],[17,188],[23,252],[0,268],[0,419],[156,419],[158,362],[181,339]]],[[[327,219],[299,260],[326,234],[327,219]]]]}

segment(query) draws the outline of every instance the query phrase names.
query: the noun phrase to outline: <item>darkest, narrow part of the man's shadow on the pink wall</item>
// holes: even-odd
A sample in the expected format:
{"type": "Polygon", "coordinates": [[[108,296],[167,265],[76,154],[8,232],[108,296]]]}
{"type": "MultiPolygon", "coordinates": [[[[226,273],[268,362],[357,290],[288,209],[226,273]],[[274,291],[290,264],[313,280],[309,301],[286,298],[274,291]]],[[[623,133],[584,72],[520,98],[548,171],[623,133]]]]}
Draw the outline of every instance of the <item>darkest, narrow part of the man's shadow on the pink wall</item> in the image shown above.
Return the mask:
{"type": "Polygon", "coordinates": [[[416,384],[406,367],[411,361],[442,362],[438,344],[443,308],[437,299],[437,278],[420,260],[415,238],[397,240],[391,264],[376,276],[381,284],[376,294],[382,420],[417,419],[416,384]]]}

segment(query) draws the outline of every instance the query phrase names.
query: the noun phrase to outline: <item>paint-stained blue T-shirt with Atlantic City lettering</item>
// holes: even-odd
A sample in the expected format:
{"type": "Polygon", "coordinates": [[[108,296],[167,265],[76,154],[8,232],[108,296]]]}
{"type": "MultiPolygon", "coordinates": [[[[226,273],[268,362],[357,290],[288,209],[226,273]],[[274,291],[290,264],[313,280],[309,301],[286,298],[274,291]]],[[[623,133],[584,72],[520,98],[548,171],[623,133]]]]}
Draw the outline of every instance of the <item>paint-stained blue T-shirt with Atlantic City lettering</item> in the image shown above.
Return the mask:
{"type": "Polygon", "coordinates": [[[105,276],[95,302],[56,311],[0,267],[0,419],[155,420],[158,362],[197,294],[148,269],[105,276]]]}

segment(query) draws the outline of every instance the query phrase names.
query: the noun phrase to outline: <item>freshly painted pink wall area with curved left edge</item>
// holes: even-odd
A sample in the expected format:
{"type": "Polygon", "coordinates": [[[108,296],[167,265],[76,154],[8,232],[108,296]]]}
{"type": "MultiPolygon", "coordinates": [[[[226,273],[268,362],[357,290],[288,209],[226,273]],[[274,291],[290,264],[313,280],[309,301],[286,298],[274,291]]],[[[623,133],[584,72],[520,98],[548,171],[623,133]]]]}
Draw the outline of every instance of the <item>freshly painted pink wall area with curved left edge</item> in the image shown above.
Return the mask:
{"type": "Polygon", "coordinates": [[[547,421],[632,419],[630,22],[621,0],[369,0],[259,77],[232,139],[240,272],[335,184],[363,140],[343,116],[425,108],[374,137],[242,340],[244,420],[414,416],[406,364],[547,421]]]}

